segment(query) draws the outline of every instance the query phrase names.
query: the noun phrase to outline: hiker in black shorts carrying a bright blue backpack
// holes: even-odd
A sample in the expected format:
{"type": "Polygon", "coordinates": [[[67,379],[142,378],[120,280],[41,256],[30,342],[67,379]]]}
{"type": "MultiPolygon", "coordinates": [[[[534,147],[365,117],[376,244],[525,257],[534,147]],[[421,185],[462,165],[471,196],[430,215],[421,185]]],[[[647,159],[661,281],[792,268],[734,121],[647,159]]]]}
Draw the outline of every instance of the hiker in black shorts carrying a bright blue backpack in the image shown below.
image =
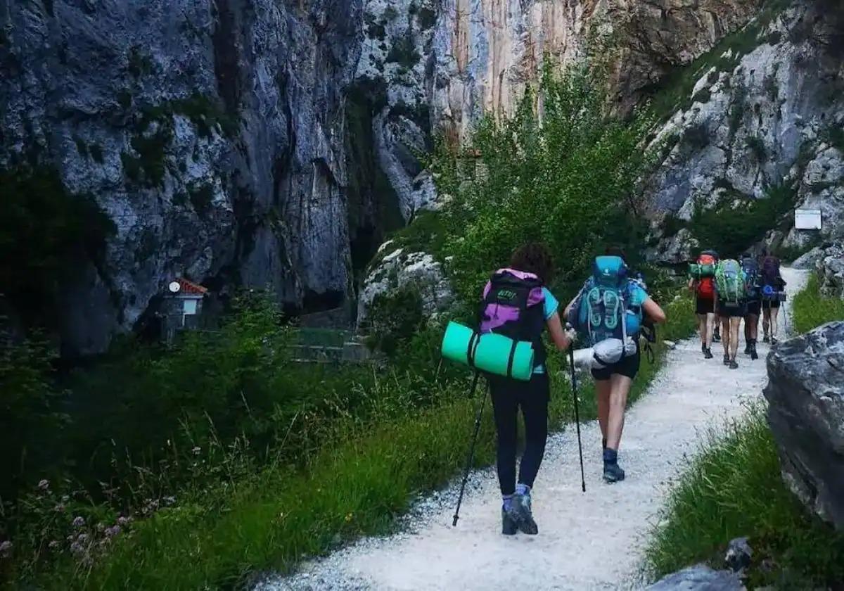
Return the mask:
{"type": "Polygon", "coordinates": [[[618,463],[625,406],[639,371],[639,335],[643,317],[664,323],[665,312],[641,283],[630,278],[625,253],[608,248],[595,258],[592,276],[565,307],[572,326],[586,334],[593,350],[592,377],[598,397],[598,424],[603,436],[603,480],[625,480],[618,463]]]}

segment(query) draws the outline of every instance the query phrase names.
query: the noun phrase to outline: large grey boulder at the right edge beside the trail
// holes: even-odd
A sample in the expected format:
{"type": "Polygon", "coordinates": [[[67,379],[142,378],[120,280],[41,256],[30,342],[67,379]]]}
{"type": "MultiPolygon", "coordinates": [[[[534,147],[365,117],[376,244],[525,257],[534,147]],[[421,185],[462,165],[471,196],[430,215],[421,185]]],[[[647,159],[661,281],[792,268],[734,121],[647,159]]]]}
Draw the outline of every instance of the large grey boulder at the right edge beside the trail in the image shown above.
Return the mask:
{"type": "Polygon", "coordinates": [[[767,363],[783,480],[811,512],[844,529],[844,322],[782,343],[767,363]]]}

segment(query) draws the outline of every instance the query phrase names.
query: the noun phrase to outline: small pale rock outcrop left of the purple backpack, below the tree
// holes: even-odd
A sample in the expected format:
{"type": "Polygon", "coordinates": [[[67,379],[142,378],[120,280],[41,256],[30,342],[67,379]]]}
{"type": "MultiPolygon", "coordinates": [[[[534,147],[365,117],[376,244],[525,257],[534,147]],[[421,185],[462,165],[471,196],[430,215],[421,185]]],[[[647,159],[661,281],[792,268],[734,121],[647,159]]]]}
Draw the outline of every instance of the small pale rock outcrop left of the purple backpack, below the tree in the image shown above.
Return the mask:
{"type": "MultiPolygon", "coordinates": [[[[390,242],[385,242],[381,252],[389,252],[390,246],[390,242]]],[[[371,306],[378,298],[390,297],[404,289],[419,294],[422,315],[428,319],[436,319],[454,301],[452,286],[441,263],[425,252],[398,248],[381,258],[365,279],[358,300],[360,328],[365,330],[371,306]]]]}

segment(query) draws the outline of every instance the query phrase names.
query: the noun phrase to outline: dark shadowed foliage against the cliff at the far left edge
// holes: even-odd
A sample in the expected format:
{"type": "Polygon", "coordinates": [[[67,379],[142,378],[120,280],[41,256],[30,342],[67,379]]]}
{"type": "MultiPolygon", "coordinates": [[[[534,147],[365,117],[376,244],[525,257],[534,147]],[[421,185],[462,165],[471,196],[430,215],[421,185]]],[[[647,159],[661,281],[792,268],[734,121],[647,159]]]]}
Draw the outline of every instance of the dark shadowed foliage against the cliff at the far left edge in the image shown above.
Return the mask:
{"type": "Polygon", "coordinates": [[[99,262],[116,228],[53,168],[0,169],[0,187],[0,285],[28,321],[51,323],[62,279],[99,262]]]}

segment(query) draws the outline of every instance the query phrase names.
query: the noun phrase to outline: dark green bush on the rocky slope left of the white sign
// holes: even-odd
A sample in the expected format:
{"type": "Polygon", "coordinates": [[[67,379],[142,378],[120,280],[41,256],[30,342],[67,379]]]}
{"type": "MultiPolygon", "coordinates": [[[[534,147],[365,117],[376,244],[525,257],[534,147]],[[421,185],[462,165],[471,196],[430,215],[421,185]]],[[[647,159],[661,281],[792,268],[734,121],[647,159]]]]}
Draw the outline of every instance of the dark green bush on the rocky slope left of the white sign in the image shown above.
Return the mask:
{"type": "Polygon", "coordinates": [[[770,187],[766,198],[728,191],[714,208],[705,209],[698,203],[689,225],[692,236],[701,247],[714,248],[723,258],[736,258],[793,209],[795,194],[792,187],[779,185],[770,187]],[[735,200],[739,203],[733,203],[735,200]]]}

